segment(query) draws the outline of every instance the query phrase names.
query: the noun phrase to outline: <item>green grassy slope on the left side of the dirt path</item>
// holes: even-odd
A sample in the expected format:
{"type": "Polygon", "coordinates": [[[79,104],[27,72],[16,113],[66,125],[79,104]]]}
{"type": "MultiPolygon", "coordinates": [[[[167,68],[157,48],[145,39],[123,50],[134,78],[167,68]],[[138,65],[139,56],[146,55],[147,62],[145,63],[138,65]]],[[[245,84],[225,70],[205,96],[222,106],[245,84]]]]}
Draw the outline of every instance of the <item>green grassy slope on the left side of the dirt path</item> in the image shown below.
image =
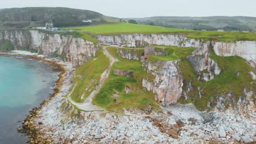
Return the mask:
{"type": "Polygon", "coordinates": [[[77,103],[82,103],[95,89],[97,83],[101,79],[101,74],[107,69],[109,58],[104,55],[103,50],[97,51],[97,57],[93,57],[90,61],[75,70],[75,77],[72,81],[77,83],[71,94],[72,100],[77,103]],[[94,60],[94,58],[97,58],[94,60]],[[82,99],[82,95],[84,95],[82,99]]]}

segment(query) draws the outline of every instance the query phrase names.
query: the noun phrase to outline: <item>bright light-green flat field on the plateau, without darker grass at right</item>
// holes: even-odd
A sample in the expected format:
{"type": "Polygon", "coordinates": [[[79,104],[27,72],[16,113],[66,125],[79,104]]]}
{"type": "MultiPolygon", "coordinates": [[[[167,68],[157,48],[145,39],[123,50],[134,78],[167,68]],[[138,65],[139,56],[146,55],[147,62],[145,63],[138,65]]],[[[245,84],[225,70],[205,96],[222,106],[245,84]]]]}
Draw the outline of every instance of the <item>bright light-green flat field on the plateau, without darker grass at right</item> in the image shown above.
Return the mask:
{"type": "Polygon", "coordinates": [[[178,28],[167,28],[159,26],[136,25],[131,23],[118,23],[115,25],[97,25],[88,27],[64,28],[73,29],[79,33],[97,34],[129,34],[129,33],[164,33],[164,32],[183,32],[188,31],[178,28]]]}

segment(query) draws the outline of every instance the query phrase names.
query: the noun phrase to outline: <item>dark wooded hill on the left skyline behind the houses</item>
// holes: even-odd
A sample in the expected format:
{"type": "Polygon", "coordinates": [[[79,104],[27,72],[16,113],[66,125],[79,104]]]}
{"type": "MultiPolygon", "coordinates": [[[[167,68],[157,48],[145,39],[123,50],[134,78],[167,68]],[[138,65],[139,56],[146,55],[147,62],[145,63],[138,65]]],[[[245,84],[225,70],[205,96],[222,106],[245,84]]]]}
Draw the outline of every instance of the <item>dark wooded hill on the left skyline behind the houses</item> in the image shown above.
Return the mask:
{"type": "MultiPolygon", "coordinates": [[[[82,20],[101,19],[104,15],[90,10],[71,8],[10,8],[0,10],[0,21],[3,25],[14,25],[14,22],[53,22],[54,26],[79,26],[84,23],[82,20]]],[[[19,24],[20,25],[20,24],[19,24]]],[[[23,24],[22,24],[23,25],[23,24]]]]}

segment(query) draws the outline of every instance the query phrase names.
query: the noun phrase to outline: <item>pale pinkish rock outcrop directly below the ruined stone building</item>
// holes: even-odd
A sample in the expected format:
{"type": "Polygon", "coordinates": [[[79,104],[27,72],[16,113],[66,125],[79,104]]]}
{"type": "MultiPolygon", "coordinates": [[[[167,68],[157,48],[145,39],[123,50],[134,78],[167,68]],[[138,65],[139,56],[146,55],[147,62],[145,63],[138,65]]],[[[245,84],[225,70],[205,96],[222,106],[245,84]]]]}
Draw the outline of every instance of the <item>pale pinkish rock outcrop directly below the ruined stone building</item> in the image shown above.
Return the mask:
{"type": "Polygon", "coordinates": [[[143,67],[155,76],[153,81],[143,79],[143,87],[153,91],[156,94],[155,100],[160,101],[163,106],[176,104],[182,96],[183,86],[178,61],[156,62],[156,64],[146,61],[143,67]]]}

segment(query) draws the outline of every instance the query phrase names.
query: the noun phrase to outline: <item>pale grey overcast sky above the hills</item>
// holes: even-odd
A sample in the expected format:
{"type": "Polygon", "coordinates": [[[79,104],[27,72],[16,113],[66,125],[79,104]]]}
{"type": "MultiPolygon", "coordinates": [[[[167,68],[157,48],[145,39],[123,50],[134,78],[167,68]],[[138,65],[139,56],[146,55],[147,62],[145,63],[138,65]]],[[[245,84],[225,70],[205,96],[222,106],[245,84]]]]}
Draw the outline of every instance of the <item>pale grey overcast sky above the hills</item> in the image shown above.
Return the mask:
{"type": "Polygon", "coordinates": [[[1,0],[2,8],[68,7],[115,17],[254,16],[256,0],[1,0]]]}

